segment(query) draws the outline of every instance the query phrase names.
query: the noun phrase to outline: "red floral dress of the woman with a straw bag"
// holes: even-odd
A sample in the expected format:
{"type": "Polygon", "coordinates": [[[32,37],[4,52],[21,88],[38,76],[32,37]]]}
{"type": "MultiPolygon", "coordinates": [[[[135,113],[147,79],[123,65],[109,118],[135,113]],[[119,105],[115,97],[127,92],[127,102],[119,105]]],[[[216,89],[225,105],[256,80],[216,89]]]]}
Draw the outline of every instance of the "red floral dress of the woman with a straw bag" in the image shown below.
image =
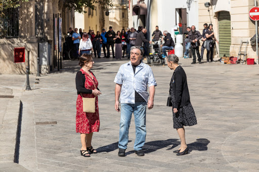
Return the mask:
{"type": "MultiPolygon", "coordinates": [[[[94,80],[95,80],[95,86],[93,83],[93,80],[84,70],[80,69],[82,74],[85,76],[85,83],[84,87],[86,89],[94,90],[95,86],[98,87],[98,81],[96,77],[92,74],[94,80]]],[[[94,98],[94,94],[82,94],[83,97],[88,98],[94,98]]],[[[82,103],[82,97],[81,94],[78,94],[77,100],[76,100],[76,118],[75,118],[75,124],[76,124],[76,133],[84,133],[89,134],[93,132],[99,132],[100,128],[100,120],[99,120],[99,108],[98,108],[98,96],[95,100],[95,113],[88,113],[83,112],[83,103],[82,103]]]]}

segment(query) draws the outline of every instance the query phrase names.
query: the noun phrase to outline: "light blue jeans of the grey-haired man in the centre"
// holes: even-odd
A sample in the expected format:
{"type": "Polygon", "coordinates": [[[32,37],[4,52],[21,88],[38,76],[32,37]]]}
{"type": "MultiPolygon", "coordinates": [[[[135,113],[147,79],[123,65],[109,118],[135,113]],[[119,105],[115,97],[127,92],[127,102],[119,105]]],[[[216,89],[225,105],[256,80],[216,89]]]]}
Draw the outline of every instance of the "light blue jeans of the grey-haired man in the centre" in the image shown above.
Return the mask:
{"type": "Polygon", "coordinates": [[[130,128],[132,113],[134,113],[136,126],[136,139],[134,150],[141,150],[146,141],[146,104],[147,102],[136,102],[135,104],[121,103],[119,144],[121,149],[127,148],[128,129],[130,128]]]}

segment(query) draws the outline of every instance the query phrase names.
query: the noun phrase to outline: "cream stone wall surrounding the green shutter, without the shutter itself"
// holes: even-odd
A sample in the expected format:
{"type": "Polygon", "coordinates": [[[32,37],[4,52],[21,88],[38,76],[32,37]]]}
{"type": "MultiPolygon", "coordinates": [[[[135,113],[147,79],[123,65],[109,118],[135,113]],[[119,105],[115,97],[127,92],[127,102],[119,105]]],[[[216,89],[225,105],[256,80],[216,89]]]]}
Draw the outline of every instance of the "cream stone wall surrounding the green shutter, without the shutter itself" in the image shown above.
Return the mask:
{"type": "MultiPolygon", "coordinates": [[[[208,24],[210,23],[207,8],[205,8],[204,6],[205,2],[209,2],[209,1],[199,0],[199,28],[200,28],[199,31],[200,32],[202,32],[204,23],[208,23],[208,24]]],[[[218,18],[217,18],[218,13],[213,12],[214,6],[215,4],[212,4],[212,7],[210,8],[210,16],[211,16],[211,21],[213,24],[215,36],[218,38],[219,36],[218,18]]],[[[255,34],[255,23],[251,21],[248,16],[248,12],[253,6],[254,6],[253,0],[246,0],[246,1],[231,0],[230,1],[230,16],[231,16],[230,56],[237,56],[239,51],[240,41],[248,40],[249,44],[247,47],[247,58],[256,59],[255,47],[252,47],[250,44],[250,38],[255,34]]],[[[242,51],[243,50],[244,48],[242,48],[242,51]]],[[[206,50],[204,54],[206,54],[206,50]]]]}

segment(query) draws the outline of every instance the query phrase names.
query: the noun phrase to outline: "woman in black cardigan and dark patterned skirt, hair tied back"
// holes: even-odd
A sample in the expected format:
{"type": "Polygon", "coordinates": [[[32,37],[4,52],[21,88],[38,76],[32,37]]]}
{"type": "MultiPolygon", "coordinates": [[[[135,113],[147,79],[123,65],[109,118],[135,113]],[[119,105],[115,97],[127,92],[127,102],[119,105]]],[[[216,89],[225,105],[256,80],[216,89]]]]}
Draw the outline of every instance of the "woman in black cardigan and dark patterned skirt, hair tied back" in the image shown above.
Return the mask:
{"type": "Polygon", "coordinates": [[[190,101],[190,94],[187,85],[187,77],[184,69],[178,65],[179,58],[175,54],[167,57],[167,66],[174,70],[170,82],[170,97],[172,103],[172,119],[174,128],[177,130],[181,139],[181,147],[175,150],[177,155],[188,154],[188,146],[185,141],[184,126],[193,126],[197,124],[195,112],[190,101]]]}

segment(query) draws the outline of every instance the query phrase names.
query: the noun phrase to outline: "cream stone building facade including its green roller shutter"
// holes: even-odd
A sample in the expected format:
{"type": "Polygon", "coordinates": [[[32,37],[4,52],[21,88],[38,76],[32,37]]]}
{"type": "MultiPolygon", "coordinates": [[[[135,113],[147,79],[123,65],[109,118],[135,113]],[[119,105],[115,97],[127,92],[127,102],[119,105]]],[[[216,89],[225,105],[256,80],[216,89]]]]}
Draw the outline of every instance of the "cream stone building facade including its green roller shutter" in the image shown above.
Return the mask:
{"type": "MultiPolygon", "coordinates": [[[[258,1],[257,1],[258,3],[258,1]]],[[[199,0],[199,28],[204,23],[213,24],[215,36],[219,40],[219,58],[238,56],[241,41],[248,41],[247,58],[256,60],[256,48],[251,46],[250,38],[255,34],[255,23],[249,19],[249,10],[254,7],[254,0],[199,0]],[[210,6],[205,7],[204,3],[210,6]]],[[[242,51],[245,44],[242,46],[242,51]]],[[[217,53],[214,51],[214,53],[217,53]]],[[[242,56],[243,59],[243,56],[242,56]]]]}

